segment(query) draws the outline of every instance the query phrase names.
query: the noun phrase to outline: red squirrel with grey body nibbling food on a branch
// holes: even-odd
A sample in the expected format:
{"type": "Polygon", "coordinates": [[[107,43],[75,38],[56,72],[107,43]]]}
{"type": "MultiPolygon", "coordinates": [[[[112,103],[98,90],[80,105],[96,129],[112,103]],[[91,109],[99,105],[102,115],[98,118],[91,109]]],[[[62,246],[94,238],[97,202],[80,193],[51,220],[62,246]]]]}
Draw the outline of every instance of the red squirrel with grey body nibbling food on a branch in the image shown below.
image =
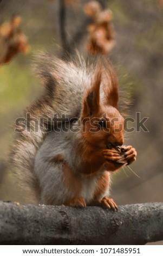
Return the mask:
{"type": "Polygon", "coordinates": [[[109,198],[110,173],[135,161],[136,150],[123,145],[115,72],[107,61],[40,58],[45,89],[24,112],[31,119],[12,150],[17,174],[38,203],[117,209],[109,198]]]}

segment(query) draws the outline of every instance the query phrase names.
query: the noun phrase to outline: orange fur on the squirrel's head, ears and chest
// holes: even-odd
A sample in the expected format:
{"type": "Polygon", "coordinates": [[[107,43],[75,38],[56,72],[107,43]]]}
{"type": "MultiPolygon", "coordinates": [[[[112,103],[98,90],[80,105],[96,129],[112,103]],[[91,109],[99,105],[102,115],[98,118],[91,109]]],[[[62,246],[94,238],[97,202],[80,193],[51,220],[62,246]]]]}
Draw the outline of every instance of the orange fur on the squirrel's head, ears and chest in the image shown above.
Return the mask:
{"type": "Polygon", "coordinates": [[[108,144],[116,146],[124,142],[124,119],[116,109],[118,99],[118,82],[114,71],[110,67],[106,70],[101,64],[97,65],[92,87],[87,92],[83,103],[81,119],[84,132],[82,132],[82,143],[79,143],[77,149],[77,155],[82,160],[83,172],[86,175],[100,172],[106,165],[107,169],[112,171],[120,168],[118,164],[106,162],[103,157],[103,150],[107,149],[108,144]],[[100,102],[101,80],[105,82],[103,84],[105,105],[100,102]],[[98,125],[100,119],[106,121],[105,129],[101,130],[98,125]],[[93,127],[96,131],[91,132],[93,127]]]}

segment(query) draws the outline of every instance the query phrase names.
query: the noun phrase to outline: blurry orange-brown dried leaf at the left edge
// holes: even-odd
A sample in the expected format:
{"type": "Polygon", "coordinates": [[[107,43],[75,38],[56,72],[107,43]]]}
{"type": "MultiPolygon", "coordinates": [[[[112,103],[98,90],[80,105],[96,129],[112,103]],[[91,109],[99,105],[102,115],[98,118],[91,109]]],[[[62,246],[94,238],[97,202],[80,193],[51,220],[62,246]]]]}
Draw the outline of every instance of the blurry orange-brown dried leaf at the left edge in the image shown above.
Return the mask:
{"type": "Polygon", "coordinates": [[[10,62],[18,52],[29,50],[27,36],[18,28],[21,17],[13,17],[0,26],[0,64],[10,62]]]}

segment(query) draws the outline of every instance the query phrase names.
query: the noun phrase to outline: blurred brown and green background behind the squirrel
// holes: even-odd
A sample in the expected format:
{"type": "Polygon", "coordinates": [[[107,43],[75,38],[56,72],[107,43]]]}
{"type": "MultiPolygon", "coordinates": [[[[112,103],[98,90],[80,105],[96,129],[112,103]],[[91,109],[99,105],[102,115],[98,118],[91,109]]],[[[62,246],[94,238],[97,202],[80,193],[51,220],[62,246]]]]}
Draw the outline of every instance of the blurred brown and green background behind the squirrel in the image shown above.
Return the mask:
{"type": "MultiPolygon", "coordinates": [[[[163,1],[97,1],[108,11],[99,17],[93,13],[93,7],[84,5],[89,1],[65,0],[64,8],[61,2],[0,2],[0,26],[13,16],[20,16],[21,23],[17,21],[20,24],[15,27],[19,26],[21,36],[27,37],[22,39],[25,48],[19,50],[25,54],[18,53],[9,61],[2,61],[0,66],[0,200],[27,202],[25,194],[19,192],[17,180],[6,168],[5,161],[14,138],[13,124],[23,109],[42,92],[40,81],[32,71],[36,52],[45,50],[63,56],[63,46],[71,52],[77,48],[83,56],[96,51],[106,54],[118,72],[120,87],[127,86],[132,98],[129,117],[135,119],[136,112],[140,112],[140,119],[148,117],[145,125],[149,132],[140,129],[126,133],[125,144],[136,148],[138,158],[129,166],[132,170],[125,167],[113,174],[112,197],[115,202],[118,205],[163,202],[163,1]],[[91,23],[94,24],[92,27],[91,23]],[[94,36],[98,26],[103,26],[100,27],[104,31],[101,32],[104,33],[103,45],[93,52],[93,40],[98,46],[98,36],[94,36]],[[110,29],[106,41],[105,29],[110,29]]],[[[0,30],[0,60],[4,47],[3,31],[0,30]]]]}

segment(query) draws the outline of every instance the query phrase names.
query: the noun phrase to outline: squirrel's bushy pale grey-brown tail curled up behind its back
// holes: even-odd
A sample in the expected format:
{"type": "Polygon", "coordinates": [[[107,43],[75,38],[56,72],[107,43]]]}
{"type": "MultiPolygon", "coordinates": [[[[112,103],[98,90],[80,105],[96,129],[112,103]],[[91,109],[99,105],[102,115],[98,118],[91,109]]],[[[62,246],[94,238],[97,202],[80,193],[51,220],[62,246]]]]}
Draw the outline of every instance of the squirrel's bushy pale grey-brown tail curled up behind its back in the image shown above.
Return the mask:
{"type": "Polygon", "coordinates": [[[41,77],[44,93],[40,99],[25,109],[25,129],[22,131],[22,127],[16,126],[17,134],[10,154],[10,169],[15,166],[14,172],[21,187],[25,189],[30,200],[33,196],[32,202],[39,202],[40,187],[34,173],[37,150],[48,131],[56,125],[57,118],[63,118],[64,121],[64,114],[66,118],[79,118],[84,86],[88,87],[90,77],[84,62],[64,62],[44,53],[40,54],[35,70],[41,77]]]}

